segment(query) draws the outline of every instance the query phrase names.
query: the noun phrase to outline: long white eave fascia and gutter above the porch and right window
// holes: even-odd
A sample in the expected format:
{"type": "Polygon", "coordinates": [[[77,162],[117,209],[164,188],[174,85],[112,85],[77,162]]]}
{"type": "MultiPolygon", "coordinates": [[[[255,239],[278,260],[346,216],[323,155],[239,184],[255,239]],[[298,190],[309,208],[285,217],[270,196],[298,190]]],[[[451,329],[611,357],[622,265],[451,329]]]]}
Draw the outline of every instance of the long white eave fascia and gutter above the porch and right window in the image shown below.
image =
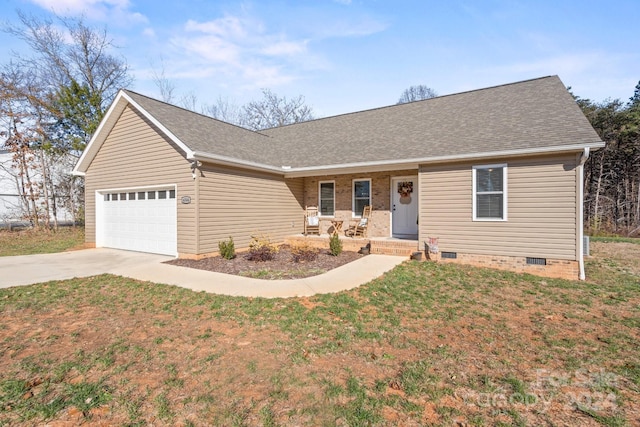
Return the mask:
{"type": "Polygon", "coordinates": [[[583,151],[585,148],[598,149],[604,146],[605,146],[605,143],[602,141],[599,141],[599,142],[588,143],[588,144],[554,146],[554,147],[547,147],[542,149],[527,148],[522,150],[493,151],[488,153],[470,153],[470,154],[453,155],[453,156],[422,157],[422,158],[406,159],[406,160],[400,160],[400,161],[383,160],[383,161],[377,161],[377,162],[346,163],[346,164],[327,165],[327,166],[311,166],[311,167],[303,167],[303,168],[291,168],[285,172],[285,176],[288,178],[299,178],[299,177],[313,176],[313,175],[328,175],[331,173],[417,169],[418,165],[425,164],[425,163],[453,163],[453,162],[459,162],[459,161],[487,159],[487,158],[495,159],[495,158],[504,158],[504,157],[571,153],[576,151],[583,151]]]}

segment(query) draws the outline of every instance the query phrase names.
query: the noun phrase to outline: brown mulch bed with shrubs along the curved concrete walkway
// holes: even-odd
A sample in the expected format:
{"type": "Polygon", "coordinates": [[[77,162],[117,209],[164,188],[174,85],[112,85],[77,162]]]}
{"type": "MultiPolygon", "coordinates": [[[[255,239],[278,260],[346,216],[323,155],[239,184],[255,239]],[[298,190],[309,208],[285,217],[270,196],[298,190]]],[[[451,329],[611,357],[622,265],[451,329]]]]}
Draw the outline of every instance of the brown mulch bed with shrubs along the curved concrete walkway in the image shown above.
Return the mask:
{"type": "Polygon", "coordinates": [[[215,256],[201,260],[175,259],[166,263],[262,279],[301,279],[325,273],[364,256],[357,252],[348,251],[333,256],[328,250],[322,249],[318,250],[318,256],[313,261],[295,262],[290,247],[287,245],[280,246],[276,256],[270,261],[250,261],[246,259],[246,255],[247,252],[239,252],[231,260],[215,256]]]}

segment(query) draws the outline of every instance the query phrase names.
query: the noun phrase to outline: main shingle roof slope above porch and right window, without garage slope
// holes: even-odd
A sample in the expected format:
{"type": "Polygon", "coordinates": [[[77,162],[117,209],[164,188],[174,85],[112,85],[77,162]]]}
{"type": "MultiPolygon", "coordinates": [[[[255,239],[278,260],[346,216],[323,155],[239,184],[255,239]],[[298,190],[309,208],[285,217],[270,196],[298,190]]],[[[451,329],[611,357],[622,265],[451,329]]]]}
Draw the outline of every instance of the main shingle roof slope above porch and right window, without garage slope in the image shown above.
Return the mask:
{"type": "Polygon", "coordinates": [[[262,132],[290,153],[292,167],[600,142],[557,76],[262,132]]]}

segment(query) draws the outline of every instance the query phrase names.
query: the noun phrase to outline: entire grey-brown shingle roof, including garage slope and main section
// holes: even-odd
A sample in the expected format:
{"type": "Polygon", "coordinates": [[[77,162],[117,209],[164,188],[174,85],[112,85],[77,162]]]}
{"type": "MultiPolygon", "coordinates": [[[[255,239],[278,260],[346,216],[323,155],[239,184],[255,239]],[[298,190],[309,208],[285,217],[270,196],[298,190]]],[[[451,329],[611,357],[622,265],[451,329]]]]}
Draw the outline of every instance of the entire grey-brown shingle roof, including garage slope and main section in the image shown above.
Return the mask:
{"type": "Polygon", "coordinates": [[[261,132],[126,93],[191,150],[275,168],[393,163],[601,143],[557,76],[261,132]]]}

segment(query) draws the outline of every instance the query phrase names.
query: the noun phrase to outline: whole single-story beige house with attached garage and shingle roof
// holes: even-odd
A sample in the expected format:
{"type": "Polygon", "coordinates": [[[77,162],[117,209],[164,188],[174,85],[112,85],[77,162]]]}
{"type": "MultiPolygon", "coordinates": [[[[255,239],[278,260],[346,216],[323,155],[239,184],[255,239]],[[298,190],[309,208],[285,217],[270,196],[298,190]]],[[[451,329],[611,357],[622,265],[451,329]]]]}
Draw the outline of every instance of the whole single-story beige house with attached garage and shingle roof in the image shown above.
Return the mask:
{"type": "Polygon", "coordinates": [[[583,165],[603,146],[557,76],[260,132],[122,90],[74,173],[89,246],[199,258],[300,235],[306,206],[370,205],[380,247],[437,237],[443,261],[577,279],[583,165]]]}

